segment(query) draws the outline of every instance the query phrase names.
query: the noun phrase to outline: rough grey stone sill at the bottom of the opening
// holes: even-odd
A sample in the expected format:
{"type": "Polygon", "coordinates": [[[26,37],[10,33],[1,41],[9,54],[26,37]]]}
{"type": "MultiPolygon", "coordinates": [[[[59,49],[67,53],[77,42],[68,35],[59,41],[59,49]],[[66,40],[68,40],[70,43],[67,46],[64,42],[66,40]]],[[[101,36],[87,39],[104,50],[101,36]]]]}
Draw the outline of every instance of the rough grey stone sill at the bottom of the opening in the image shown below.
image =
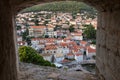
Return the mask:
{"type": "Polygon", "coordinates": [[[20,63],[19,80],[97,80],[97,77],[82,71],[66,71],[52,67],[20,63]]]}

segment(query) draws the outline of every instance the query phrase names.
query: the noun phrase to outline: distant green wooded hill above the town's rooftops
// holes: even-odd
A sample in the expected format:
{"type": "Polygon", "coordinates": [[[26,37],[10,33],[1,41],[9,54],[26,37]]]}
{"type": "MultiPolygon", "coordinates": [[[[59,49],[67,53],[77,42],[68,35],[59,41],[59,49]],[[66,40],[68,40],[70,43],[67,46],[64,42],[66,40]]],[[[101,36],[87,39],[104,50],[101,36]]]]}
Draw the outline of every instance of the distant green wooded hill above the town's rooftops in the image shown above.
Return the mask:
{"type": "Polygon", "coordinates": [[[89,11],[94,13],[96,10],[82,2],[77,1],[60,1],[35,5],[22,10],[21,12],[38,12],[38,11],[61,11],[61,12],[81,12],[89,11]]]}

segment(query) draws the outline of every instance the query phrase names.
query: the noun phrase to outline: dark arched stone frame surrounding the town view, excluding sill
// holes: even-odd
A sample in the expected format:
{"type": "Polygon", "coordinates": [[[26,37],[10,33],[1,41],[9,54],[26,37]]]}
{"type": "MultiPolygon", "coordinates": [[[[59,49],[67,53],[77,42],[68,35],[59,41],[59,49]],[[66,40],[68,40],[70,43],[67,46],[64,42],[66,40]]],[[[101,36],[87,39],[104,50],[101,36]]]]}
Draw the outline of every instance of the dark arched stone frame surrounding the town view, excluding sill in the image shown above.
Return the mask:
{"type": "MultiPolygon", "coordinates": [[[[0,79],[17,80],[15,14],[23,7],[55,0],[2,0],[0,2],[0,79]]],[[[59,1],[59,0],[56,0],[59,1]]],[[[98,11],[97,71],[101,80],[119,80],[120,1],[81,0],[98,11]]]]}

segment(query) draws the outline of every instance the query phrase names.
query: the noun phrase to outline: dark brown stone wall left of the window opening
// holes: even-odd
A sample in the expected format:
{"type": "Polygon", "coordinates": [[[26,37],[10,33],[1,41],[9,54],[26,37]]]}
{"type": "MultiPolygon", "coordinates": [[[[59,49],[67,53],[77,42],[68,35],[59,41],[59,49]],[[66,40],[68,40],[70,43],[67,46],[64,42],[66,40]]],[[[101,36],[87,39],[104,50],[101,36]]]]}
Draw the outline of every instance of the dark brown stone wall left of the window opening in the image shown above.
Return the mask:
{"type": "Polygon", "coordinates": [[[0,2],[0,80],[17,80],[14,15],[9,0],[0,2]]]}

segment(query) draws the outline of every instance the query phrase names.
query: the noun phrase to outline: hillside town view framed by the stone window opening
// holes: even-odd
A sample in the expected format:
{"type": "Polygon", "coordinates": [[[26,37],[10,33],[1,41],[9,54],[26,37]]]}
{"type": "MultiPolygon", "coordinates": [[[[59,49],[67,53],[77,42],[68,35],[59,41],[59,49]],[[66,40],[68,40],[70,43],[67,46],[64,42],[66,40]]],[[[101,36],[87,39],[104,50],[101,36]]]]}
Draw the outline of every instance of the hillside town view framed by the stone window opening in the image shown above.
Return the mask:
{"type": "Polygon", "coordinates": [[[95,74],[94,8],[75,1],[36,5],[18,13],[16,24],[21,62],[95,74]]]}

